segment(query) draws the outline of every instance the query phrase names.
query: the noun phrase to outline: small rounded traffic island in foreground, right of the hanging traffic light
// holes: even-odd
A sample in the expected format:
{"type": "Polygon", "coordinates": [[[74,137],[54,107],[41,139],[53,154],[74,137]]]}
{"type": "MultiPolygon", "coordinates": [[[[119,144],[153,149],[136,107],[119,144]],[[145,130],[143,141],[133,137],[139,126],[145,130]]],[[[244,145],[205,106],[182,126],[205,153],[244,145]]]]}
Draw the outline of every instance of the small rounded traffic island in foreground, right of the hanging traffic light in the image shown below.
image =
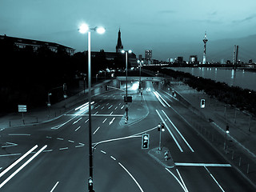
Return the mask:
{"type": "Polygon", "coordinates": [[[174,160],[170,155],[170,150],[166,147],[162,147],[161,150],[159,150],[159,147],[156,147],[149,150],[148,154],[166,168],[174,168],[175,166],[174,160]]]}

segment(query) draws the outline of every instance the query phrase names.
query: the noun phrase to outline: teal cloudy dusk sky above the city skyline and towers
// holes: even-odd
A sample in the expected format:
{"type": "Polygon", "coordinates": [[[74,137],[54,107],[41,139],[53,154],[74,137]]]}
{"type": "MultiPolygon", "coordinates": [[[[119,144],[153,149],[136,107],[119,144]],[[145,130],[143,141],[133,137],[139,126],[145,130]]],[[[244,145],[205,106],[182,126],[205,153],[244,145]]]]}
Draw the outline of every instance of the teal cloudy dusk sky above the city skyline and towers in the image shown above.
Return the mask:
{"type": "MultiPolygon", "coordinates": [[[[201,61],[207,31],[208,58],[231,59],[234,39],[256,34],[255,8],[255,0],[0,0],[0,34],[83,51],[87,35],[79,34],[78,26],[86,22],[106,27],[106,34],[92,33],[92,50],[115,51],[120,27],[124,49],[137,55],[150,49],[163,61],[190,54],[201,61]],[[221,39],[233,40],[223,47],[221,39]],[[218,55],[222,49],[226,55],[218,55]]],[[[242,46],[254,54],[255,45],[242,46]]]]}

